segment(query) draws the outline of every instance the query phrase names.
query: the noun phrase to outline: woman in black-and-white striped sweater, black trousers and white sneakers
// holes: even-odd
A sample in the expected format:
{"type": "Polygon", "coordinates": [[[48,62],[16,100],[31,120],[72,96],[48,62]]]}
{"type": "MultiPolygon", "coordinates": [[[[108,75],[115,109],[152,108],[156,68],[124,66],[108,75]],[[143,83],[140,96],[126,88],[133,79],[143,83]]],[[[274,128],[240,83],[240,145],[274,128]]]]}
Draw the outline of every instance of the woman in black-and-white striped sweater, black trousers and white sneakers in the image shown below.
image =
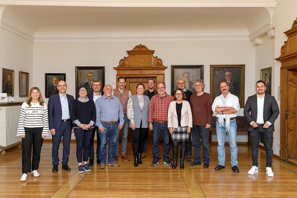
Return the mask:
{"type": "Polygon", "coordinates": [[[29,97],[22,104],[16,135],[22,137],[23,175],[20,181],[25,182],[27,173],[31,171],[34,177],[39,177],[37,170],[43,139],[49,135],[49,117],[48,106],[38,87],[31,88],[29,97]]]}

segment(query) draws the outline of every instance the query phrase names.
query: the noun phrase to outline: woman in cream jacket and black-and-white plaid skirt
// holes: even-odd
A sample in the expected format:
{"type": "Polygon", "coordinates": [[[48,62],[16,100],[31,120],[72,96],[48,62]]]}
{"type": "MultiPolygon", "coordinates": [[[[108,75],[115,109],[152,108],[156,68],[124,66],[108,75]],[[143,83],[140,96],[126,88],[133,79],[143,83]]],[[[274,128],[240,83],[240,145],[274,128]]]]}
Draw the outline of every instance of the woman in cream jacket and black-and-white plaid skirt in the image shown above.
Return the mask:
{"type": "Polygon", "coordinates": [[[180,150],[180,169],[184,169],[186,143],[189,141],[192,128],[192,111],[190,103],[185,100],[186,95],[182,89],[174,92],[174,101],[170,102],[168,108],[168,129],[172,138],[173,165],[177,167],[178,145],[181,143],[180,150]]]}

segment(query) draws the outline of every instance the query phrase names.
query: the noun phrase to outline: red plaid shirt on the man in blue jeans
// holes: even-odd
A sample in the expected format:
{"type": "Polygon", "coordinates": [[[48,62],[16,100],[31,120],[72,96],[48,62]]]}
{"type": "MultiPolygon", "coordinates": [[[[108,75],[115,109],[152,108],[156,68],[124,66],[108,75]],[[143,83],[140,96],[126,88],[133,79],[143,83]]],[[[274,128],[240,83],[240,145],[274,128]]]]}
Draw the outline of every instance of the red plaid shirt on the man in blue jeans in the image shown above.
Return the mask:
{"type": "Polygon", "coordinates": [[[152,119],[167,121],[169,104],[173,100],[173,96],[168,94],[162,99],[159,94],[151,97],[148,111],[148,122],[152,122],[152,119]]]}

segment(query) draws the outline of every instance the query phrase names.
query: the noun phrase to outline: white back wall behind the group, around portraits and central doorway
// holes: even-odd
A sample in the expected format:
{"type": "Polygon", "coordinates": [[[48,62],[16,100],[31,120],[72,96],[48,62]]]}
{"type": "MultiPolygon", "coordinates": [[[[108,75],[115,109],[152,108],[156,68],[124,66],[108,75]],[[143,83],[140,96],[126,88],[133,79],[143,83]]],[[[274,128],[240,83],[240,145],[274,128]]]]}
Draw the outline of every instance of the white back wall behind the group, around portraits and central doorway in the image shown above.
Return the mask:
{"type": "MultiPolygon", "coordinates": [[[[253,94],[249,82],[255,80],[255,48],[249,41],[234,42],[148,42],[163,60],[167,92],[170,91],[171,65],[204,65],[205,92],[210,91],[210,64],[246,64],[246,94],[253,94]]],[[[35,43],[34,84],[45,90],[45,73],[66,73],[67,93],[75,95],[75,66],[105,66],[105,84],[116,83],[112,67],[139,43],[35,43]]],[[[239,115],[243,115],[240,109],[239,115]]],[[[216,141],[216,137],[213,137],[216,141]]],[[[238,134],[238,142],[247,142],[247,134],[238,134]]]]}

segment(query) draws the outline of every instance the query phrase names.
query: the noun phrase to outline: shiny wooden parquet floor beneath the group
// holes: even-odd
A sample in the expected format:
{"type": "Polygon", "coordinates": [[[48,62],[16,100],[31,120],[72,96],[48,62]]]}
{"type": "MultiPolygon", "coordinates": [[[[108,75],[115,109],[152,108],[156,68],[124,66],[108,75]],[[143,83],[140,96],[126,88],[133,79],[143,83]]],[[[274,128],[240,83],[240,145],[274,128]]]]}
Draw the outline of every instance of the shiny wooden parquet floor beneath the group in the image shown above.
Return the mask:
{"type": "MultiPolygon", "coordinates": [[[[233,173],[230,165],[230,149],[226,147],[226,168],[215,171],[216,146],[210,148],[210,166],[189,166],[171,169],[161,159],[150,166],[151,146],[144,164],[133,166],[131,143],[127,154],[131,161],[120,161],[120,167],[99,170],[95,164],[88,173],[77,173],[75,143],[71,143],[69,166],[65,171],[51,172],[51,143],[42,148],[39,178],[28,174],[26,182],[20,182],[21,149],[12,149],[0,155],[0,198],[296,198],[297,167],[273,158],[274,177],[265,174],[265,153],[259,151],[259,173],[247,175],[251,167],[250,149],[238,147],[240,173],[233,173]]],[[[62,145],[60,146],[60,156],[62,145]]],[[[120,158],[120,157],[119,157],[120,158]]]]}

